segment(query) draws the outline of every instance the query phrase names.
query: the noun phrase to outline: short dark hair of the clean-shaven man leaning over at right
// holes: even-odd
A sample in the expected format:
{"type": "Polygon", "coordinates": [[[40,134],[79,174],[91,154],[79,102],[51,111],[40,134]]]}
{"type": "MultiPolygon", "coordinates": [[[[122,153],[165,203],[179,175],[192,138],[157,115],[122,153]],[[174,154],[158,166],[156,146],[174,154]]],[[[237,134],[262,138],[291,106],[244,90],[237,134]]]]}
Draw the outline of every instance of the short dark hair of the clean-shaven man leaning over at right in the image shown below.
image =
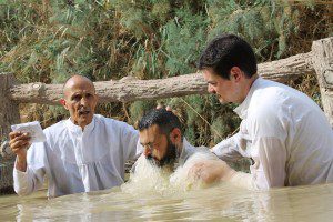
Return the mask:
{"type": "Polygon", "coordinates": [[[241,37],[224,33],[213,39],[203,50],[198,69],[212,69],[223,79],[230,79],[230,70],[239,67],[248,78],[256,73],[256,59],[251,46],[241,37]]]}

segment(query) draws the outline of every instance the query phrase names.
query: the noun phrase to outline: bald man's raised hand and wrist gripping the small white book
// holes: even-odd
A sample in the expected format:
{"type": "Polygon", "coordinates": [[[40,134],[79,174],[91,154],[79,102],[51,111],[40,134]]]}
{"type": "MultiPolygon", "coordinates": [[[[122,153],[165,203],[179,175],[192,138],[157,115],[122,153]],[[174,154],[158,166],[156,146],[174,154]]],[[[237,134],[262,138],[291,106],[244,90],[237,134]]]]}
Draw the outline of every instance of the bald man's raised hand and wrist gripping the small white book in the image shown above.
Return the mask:
{"type": "Polygon", "coordinates": [[[9,145],[14,154],[17,154],[16,168],[19,171],[26,172],[27,170],[27,149],[30,145],[30,137],[28,133],[14,131],[9,133],[9,145]]]}

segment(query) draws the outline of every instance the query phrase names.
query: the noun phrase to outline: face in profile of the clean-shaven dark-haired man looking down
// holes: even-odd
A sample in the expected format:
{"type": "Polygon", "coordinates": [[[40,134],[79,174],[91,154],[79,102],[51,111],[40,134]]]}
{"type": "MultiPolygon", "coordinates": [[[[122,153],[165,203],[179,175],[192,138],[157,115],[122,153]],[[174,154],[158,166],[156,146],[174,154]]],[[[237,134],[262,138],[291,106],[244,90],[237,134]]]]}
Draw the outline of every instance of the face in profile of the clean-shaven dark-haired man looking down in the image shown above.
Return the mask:
{"type": "Polygon", "coordinates": [[[208,82],[208,91],[210,93],[216,94],[219,101],[224,104],[229,102],[235,102],[236,90],[234,81],[223,79],[222,77],[215,74],[212,69],[202,70],[203,78],[208,82]]]}

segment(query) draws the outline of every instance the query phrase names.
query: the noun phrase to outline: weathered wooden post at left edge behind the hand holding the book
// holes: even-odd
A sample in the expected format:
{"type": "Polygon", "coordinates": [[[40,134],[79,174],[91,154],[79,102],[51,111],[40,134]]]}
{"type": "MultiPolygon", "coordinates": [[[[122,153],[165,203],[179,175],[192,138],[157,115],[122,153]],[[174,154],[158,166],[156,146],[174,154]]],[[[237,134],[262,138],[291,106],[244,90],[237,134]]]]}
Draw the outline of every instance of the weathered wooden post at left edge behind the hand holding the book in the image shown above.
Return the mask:
{"type": "MultiPolygon", "coordinates": [[[[9,99],[9,89],[14,83],[13,74],[0,73],[0,142],[8,138],[10,125],[19,123],[19,105],[9,99]]],[[[6,145],[3,143],[3,145],[6,145]]],[[[1,145],[1,149],[3,149],[1,145]]],[[[0,155],[0,193],[12,190],[13,159],[6,160],[0,155]]]]}

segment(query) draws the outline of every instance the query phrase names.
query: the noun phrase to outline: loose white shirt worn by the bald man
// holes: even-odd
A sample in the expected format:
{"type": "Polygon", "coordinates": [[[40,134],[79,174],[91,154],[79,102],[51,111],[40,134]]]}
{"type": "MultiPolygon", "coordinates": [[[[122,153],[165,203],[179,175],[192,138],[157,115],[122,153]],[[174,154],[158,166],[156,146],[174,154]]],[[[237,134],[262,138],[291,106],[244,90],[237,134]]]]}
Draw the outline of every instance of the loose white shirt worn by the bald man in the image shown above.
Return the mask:
{"type": "Polygon", "coordinates": [[[82,131],[70,119],[44,129],[46,142],[33,143],[27,171],[14,168],[14,190],[29,194],[49,179],[48,196],[110,189],[123,183],[124,163],[142,150],[131,125],[95,114],[82,131]]]}

